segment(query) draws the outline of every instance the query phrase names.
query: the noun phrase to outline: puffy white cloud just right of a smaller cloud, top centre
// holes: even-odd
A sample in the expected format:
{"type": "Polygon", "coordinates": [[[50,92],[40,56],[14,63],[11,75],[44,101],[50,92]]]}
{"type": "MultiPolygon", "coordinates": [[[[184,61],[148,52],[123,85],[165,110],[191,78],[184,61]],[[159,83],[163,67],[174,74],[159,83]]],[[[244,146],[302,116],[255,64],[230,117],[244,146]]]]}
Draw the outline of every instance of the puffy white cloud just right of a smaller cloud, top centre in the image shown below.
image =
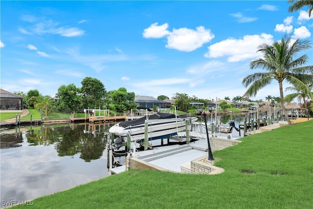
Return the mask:
{"type": "Polygon", "coordinates": [[[168,36],[166,47],[189,52],[210,42],[214,38],[214,34],[210,29],[205,29],[203,26],[196,29],[174,28],[173,32],[168,36]]]}

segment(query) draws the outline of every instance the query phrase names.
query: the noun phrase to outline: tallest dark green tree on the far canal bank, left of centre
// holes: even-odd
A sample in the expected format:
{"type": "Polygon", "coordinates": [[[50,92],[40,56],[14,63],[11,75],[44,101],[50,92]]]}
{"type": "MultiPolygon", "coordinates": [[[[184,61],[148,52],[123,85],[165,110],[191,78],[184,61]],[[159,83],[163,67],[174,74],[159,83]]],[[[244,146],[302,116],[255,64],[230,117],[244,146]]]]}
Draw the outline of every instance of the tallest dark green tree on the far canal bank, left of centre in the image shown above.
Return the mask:
{"type": "Polygon", "coordinates": [[[103,83],[96,78],[86,77],[81,84],[84,107],[103,108],[107,93],[103,83]]]}

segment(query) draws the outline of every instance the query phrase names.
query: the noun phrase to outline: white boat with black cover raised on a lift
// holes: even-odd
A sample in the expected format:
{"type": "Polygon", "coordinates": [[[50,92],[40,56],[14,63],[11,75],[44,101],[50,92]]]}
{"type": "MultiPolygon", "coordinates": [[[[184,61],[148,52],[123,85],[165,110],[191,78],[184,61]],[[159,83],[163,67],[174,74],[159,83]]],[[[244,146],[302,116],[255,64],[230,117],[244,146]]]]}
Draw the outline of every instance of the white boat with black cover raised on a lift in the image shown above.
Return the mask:
{"type": "Polygon", "coordinates": [[[120,137],[122,141],[127,141],[128,135],[131,137],[131,141],[138,141],[145,138],[145,123],[147,123],[148,138],[150,140],[164,139],[175,136],[178,132],[185,130],[186,121],[189,121],[189,125],[191,125],[197,120],[198,117],[156,113],[138,119],[116,123],[109,129],[109,132],[120,137]]]}

